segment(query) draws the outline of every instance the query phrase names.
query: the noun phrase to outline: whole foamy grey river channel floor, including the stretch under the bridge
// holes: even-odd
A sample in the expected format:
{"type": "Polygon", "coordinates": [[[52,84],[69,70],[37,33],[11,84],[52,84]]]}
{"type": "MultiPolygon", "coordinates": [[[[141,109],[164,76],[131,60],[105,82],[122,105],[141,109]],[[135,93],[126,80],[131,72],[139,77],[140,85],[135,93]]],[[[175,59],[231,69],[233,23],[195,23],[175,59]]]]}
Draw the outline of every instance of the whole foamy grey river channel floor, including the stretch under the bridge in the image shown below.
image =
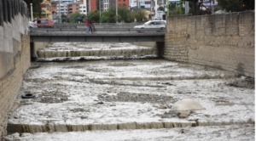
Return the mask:
{"type": "Polygon", "coordinates": [[[38,51],[6,140],[254,140],[254,80],[130,43],[38,51]]]}

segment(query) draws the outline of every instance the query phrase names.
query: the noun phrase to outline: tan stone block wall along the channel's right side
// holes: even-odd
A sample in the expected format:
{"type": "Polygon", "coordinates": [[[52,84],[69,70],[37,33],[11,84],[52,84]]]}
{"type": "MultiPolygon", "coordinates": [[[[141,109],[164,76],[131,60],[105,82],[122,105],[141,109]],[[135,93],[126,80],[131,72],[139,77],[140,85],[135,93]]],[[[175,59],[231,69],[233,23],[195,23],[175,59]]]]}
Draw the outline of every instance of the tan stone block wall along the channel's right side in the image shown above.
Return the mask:
{"type": "Polygon", "coordinates": [[[164,58],[254,78],[254,11],[170,16],[164,58]]]}

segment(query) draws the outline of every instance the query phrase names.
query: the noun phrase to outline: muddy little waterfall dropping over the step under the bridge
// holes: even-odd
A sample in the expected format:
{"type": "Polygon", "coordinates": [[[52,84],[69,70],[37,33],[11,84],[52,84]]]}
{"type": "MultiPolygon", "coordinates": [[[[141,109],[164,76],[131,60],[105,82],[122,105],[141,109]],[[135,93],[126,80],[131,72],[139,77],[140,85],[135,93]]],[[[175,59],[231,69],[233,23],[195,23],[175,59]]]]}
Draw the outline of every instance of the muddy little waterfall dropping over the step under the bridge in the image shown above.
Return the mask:
{"type": "MultiPolygon", "coordinates": [[[[126,45],[128,46],[128,45],[126,45]]],[[[86,49],[86,48],[69,48],[67,45],[67,49],[62,48],[44,48],[38,50],[38,58],[67,58],[67,57],[117,57],[117,56],[148,56],[153,55],[156,56],[157,51],[155,48],[149,47],[137,47],[129,48],[129,47],[116,47],[114,45],[112,48],[100,48],[100,49],[86,49]],[[113,48],[114,47],[114,48],[113,48]]]]}

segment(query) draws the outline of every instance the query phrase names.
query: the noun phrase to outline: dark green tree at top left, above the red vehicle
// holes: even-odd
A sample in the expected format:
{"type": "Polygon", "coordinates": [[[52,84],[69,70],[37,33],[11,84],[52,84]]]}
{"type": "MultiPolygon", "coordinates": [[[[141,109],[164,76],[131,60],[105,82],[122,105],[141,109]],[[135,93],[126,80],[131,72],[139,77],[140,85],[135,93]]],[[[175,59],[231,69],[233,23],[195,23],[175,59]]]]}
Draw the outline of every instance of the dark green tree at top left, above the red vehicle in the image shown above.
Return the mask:
{"type": "MultiPolygon", "coordinates": [[[[24,0],[27,5],[27,8],[30,8],[30,3],[32,3],[32,11],[35,16],[41,18],[42,10],[41,10],[41,3],[43,0],[24,0]]],[[[29,10],[30,12],[31,10],[29,10]]]]}

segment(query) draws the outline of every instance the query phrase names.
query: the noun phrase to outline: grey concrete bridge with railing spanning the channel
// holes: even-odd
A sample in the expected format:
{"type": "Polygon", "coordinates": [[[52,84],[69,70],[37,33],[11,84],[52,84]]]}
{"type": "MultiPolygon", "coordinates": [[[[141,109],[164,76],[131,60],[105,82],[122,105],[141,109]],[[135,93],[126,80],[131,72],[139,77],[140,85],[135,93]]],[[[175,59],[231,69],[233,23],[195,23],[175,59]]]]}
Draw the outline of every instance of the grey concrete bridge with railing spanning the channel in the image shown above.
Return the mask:
{"type": "Polygon", "coordinates": [[[164,42],[159,29],[108,28],[86,33],[85,29],[31,28],[30,42],[164,42]]]}

